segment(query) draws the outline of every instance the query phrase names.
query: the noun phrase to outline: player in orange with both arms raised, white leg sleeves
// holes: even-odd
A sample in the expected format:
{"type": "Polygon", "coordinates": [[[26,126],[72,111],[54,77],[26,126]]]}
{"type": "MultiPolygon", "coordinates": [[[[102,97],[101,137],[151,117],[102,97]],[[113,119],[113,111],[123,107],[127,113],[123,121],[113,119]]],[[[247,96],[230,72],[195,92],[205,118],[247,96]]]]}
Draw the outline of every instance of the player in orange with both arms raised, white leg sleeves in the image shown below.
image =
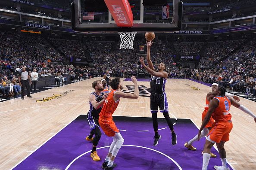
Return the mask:
{"type": "Polygon", "coordinates": [[[112,79],[110,82],[110,86],[112,88],[109,96],[105,100],[103,104],[103,108],[100,112],[99,124],[104,133],[113,138],[113,142],[110,145],[109,153],[106,156],[104,163],[102,164],[102,168],[105,170],[112,170],[116,167],[116,164],[113,164],[119,149],[124,143],[124,139],[120,134],[118,128],[116,127],[115,122],[112,120],[112,114],[115,112],[120,98],[128,98],[128,99],[137,99],[139,97],[139,88],[137,85],[137,79],[134,76],[131,76],[131,81],[134,83],[135,90],[134,94],[124,93],[121,90],[123,89],[123,85],[120,82],[120,78],[112,79]]]}

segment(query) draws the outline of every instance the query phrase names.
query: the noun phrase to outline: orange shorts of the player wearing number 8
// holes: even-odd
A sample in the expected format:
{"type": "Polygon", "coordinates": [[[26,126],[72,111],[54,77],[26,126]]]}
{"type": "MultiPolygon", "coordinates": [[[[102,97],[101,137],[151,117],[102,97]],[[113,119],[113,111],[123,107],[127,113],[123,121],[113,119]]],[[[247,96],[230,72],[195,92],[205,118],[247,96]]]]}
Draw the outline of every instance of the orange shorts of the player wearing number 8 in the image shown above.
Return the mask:
{"type": "Polygon", "coordinates": [[[229,133],[233,128],[232,122],[223,121],[214,123],[212,129],[207,134],[207,139],[213,142],[220,143],[221,141],[227,142],[229,140],[229,133]]]}

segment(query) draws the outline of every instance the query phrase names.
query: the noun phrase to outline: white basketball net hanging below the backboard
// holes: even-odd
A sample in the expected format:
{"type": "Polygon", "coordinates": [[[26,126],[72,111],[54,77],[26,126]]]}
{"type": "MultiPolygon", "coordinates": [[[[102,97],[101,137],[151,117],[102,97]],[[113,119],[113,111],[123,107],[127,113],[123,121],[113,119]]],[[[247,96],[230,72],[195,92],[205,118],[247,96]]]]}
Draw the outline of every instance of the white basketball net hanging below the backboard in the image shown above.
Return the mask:
{"type": "Polygon", "coordinates": [[[119,32],[120,35],[120,48],[119,49],[133,49],[133,40],[137,32],[119,32]]]}

